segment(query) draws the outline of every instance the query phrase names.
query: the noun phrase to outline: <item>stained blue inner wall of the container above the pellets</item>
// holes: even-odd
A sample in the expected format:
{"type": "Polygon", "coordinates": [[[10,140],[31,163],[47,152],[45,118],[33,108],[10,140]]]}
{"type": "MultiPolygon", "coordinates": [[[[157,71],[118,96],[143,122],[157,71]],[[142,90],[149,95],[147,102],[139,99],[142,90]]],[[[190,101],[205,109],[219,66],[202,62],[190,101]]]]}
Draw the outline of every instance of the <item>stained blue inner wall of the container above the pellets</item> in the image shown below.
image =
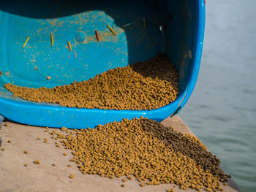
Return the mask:
{"type": "Polygon", "coordinates": [[[2,1],[1,93],[8,93],[3,88],[7,82],[29,88],[52,88],[75,80],[89,80],[108,69],[145,61],[159,52],[167,53],[176,65],[182,93],[189,74],[182,66],[184,54],[192,54],[187,31],[192,13],[186,9],[188,4],[188,1],[2,1]],[[107,25],[116,31],[116,36],[107,25]],[[23,48],[27,37],[30,39],[23,48]]]}

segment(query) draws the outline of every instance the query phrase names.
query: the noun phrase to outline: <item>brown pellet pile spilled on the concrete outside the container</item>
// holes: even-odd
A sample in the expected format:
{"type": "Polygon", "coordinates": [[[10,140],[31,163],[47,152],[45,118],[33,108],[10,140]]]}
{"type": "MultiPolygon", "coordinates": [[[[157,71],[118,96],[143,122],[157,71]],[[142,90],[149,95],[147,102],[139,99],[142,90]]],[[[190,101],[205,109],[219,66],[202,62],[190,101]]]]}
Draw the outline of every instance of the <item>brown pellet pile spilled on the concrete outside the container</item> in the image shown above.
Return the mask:
{"type": "MultiPolygon", "coordinates": [[[[48,131],[48,130],[46,130],[48,131]]],[[[222,191],[228,176],[197,137],[147,118],[121,120],[96,128],[49,132],[71,149],[83,174],[136,177],[141,186],[172,183],[182,189],[222,191]],[[132,176],[133,175],[133,176],[132,176]]],[[[57,146],[58,147],[58,146],[57,146]]]]}

